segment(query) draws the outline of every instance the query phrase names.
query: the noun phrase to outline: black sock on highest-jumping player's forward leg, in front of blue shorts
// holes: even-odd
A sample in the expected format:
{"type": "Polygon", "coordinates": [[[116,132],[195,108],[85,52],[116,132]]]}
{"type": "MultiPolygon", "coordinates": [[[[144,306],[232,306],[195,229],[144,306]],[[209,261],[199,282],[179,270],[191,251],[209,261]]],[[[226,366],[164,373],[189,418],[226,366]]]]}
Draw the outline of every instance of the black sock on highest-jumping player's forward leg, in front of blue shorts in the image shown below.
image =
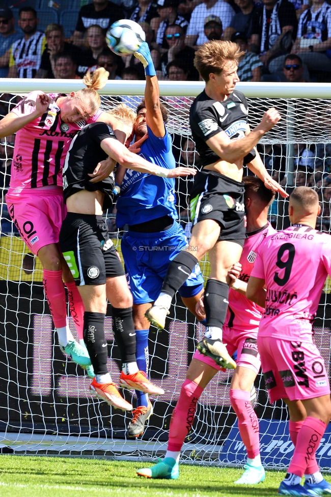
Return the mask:
{"type": "Polygon", "coordinates": [[[198,259],[192,256],[190,252],[180,252],[169,264],[166,278],[163,281],[162,292],[173,297],[185,283],[198,262],[198,259]]]}

